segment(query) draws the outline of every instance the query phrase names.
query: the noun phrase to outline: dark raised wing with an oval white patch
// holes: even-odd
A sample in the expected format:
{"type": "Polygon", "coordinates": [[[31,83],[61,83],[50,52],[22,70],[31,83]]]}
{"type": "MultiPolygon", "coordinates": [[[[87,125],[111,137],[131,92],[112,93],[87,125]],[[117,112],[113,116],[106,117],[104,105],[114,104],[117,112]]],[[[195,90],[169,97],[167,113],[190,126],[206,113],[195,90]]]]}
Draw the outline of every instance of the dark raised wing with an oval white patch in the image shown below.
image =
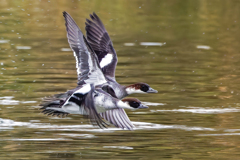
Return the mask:
{"type": "Polygon", "coordinates": [[[113,48],[112,41],[100,18],[93,13],[91,20],[87,19],[86,34],[87,40],[98,56],[100,67],[106,77],[115,79],[117,65],[117,54],[113,48]]]}

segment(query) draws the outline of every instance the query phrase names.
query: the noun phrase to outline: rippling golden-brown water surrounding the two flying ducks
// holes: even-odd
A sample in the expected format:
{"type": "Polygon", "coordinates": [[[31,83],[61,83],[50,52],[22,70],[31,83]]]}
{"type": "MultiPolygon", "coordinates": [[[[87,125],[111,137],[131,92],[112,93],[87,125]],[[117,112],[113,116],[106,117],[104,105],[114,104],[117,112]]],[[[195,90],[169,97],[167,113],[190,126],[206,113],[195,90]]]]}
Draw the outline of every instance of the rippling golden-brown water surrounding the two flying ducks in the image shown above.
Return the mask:
{"type": "Polygon", "coordinates": [[[239,159],[240,1],[0,0],[0,159],[239,159]],[[136,130],[40,114],[42,98],[74,88],[62,12],[84,31],[96,12],[118,54],[120,84],[149,109],[136,130]],[[148,43],[143,43],[148,42],[148,43]]]}

